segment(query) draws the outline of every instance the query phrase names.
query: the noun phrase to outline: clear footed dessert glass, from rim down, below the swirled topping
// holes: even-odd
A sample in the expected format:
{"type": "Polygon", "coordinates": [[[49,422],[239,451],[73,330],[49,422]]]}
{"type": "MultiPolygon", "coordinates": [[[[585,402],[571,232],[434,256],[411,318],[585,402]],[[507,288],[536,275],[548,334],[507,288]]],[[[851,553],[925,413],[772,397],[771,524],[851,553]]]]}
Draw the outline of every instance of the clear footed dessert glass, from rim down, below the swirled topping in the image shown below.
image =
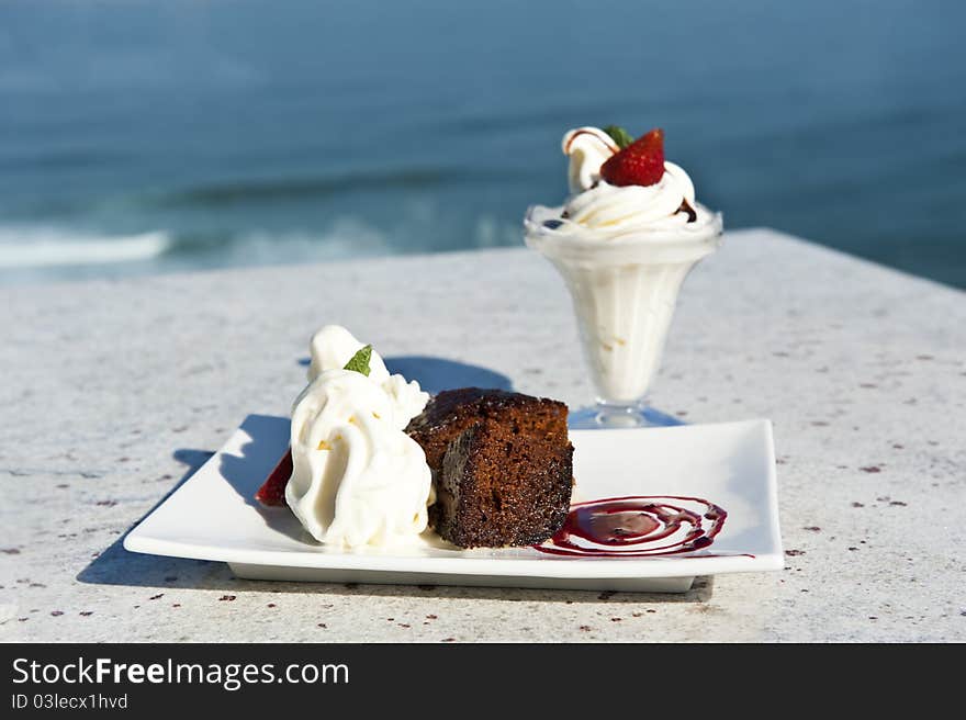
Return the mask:
{"type": "Polygon", "coordinates": [[[573,301],[596,406],[572,415],[572,427],[676,424],[645,396],[661,363],[684,279],[720,244],[719,213],[701,223],[604,237],[561,223],[560,207],[536,205],[526,243],[560,272],[573,301]]]}

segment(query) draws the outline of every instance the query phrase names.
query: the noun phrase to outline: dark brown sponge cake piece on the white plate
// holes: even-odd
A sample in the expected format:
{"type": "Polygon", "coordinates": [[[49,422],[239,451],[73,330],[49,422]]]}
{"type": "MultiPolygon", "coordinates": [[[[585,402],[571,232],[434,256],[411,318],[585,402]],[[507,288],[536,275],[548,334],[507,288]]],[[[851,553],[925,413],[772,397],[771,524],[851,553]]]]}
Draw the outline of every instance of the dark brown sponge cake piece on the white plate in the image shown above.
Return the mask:
{"type": "Polygon", "coordinates": [[[499,390],[439,393],[406,431],[436,481],[430,522],[462,548],[536,544],[566,518],[566,405],[499,390]]]}

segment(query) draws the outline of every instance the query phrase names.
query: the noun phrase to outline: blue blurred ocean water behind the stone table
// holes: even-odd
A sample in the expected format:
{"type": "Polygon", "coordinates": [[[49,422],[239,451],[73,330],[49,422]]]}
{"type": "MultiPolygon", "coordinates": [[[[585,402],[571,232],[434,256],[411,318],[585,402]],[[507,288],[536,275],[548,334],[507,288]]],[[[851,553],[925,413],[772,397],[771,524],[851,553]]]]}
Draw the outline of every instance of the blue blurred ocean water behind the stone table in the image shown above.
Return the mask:
{"type": "Polygon", "coordinates": [[[0,283],[521,244],[569,127],[966,288],[966,4],[0,3],[0,283]]]}

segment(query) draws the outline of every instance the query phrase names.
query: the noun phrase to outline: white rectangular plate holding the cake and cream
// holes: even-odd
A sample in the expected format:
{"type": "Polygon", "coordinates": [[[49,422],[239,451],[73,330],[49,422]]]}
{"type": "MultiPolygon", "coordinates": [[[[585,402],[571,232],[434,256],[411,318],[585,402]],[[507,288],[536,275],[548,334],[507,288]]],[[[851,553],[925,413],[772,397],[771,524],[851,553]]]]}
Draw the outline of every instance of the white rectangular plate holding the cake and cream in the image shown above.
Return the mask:
{"type": "Polygon", "coordinates": [[[308,538],[256,490],[289,442],[289,419],[250,415],[124,539],[133,552],[227,562],[239,577],[679,593],[695,576],[780,570],[772,425],[571,430],[574,500],[700,497],[728,513],[714,544],[660,556],[559,556],[532,548],[341,550],[308,538]]]}

